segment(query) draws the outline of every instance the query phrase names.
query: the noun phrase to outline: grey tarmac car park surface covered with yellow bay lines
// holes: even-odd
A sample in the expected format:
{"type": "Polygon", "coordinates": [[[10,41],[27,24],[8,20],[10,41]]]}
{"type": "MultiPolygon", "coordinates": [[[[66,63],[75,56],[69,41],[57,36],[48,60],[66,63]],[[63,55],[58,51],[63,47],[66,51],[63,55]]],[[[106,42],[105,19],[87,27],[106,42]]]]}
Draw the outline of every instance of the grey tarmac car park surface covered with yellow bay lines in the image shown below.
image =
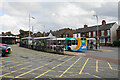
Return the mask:
{"type": "MultiPolygon", "coordinates": [[[[2,57],[2,79],[100,79],[119,80],[119,64],[111,61],[85,57],[92,52],[70,52],[67,55],[35,51],[11,45],[13,51],[8,57],[2,57]],[[71,55],[71,54],[76,55],[71,55]]],[[[114,49],[113,49],[114,50],[114,49]]],[[[103,51],[105,54],[108,51],[103,51]]],[[[112,52],[111,52],[112,53],[112,52]]],[[[98,55],[97,55],[98,56],[98,55]]],[[[101,56],[100,56],[101,57],[101,56]]],[[[109,58],[109,57],[108,57],[109,58]]],[[[116,58],[114,58],[116,59],[116,58]]]]}

